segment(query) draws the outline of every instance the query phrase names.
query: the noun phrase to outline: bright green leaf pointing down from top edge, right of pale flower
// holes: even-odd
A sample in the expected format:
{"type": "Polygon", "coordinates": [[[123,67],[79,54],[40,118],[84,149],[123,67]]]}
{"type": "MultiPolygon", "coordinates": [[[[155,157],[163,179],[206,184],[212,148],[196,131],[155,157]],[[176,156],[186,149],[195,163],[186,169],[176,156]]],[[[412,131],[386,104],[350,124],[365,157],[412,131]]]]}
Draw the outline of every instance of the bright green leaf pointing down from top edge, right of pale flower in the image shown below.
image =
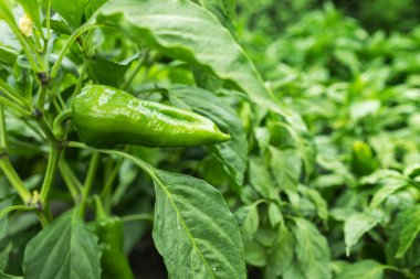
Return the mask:
{"type": "Polygon", "coordinates": [[[82,24],[87,0],[51,0],[51,7],[56,11],[73,29],[82,24]]]}

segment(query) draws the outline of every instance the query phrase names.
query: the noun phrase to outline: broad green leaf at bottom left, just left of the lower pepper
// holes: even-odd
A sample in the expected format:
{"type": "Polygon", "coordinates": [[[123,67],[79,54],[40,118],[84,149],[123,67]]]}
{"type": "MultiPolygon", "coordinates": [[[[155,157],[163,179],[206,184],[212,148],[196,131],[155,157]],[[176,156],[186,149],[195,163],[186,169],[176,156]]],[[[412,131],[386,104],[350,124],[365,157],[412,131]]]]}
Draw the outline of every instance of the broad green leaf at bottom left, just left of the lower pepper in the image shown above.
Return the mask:
{"type": "Polygon", "coordinates": [[[77,210],[61,215],[32,238],[23,259],[24,278],[101,278],[97,237],[86,228],[77,210]]]}

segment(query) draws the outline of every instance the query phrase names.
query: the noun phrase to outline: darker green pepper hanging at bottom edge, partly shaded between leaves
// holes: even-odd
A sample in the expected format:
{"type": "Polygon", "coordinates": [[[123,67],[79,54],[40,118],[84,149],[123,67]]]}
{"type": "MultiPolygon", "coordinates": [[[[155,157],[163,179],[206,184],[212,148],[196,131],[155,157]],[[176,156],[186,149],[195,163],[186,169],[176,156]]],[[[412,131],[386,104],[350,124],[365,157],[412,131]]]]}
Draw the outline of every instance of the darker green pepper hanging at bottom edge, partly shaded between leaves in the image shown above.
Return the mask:
{"type": "Polygon", "coordinates": [[[133,279],[133,271],[124,255],[123,222],[116,216],[96,219],[93,229],[99,238],[102,251],[101,266],[103,279],[133,279]]]}

